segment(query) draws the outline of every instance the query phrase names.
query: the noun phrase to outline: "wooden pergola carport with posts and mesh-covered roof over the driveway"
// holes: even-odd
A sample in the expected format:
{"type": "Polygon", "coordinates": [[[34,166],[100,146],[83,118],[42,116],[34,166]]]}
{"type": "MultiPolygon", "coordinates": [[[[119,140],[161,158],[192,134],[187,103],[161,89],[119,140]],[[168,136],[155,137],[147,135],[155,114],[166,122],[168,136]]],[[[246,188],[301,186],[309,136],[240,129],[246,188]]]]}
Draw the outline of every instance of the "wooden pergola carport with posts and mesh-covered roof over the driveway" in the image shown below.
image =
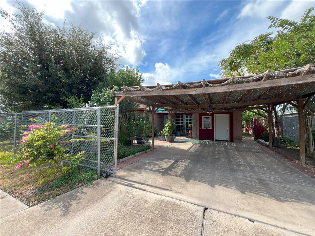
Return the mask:
{"type": "MultiPolygon", "coordinates": [[[[156,86],[123,86],[123,92],[113,92],[115,104],[124,99],[147,105],[152,112],[152,147],[154,148],[154,112],[160,108],[169,113],[226,112],[261,109],[268,113],[269,140],[272,140],[272,107],[289,103],[298,109],[300,161],[305,163],[303,110],[315,95],[315,66],[272,72],[261,75],[232,76],[156,86]],[[292,103],[296,101],[297,105],[292,103]]],[[[269,142],[272,148],[272,142],[269,142]]]]}

